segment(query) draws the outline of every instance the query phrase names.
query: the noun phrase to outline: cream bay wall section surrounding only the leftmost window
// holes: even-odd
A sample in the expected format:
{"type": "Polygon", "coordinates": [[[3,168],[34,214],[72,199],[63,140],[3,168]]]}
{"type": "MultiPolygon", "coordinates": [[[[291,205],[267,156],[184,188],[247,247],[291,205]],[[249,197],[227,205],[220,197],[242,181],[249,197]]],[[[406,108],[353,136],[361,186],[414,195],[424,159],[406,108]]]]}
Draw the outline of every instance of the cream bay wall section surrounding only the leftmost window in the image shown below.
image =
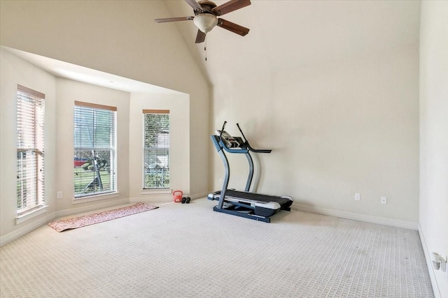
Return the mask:
{"type": "Polygon", "coordinates": [[[29,224],[29,221],[18,225],[15,223],[17,216],[15,128],[18,84],[45,94],[45,202],[49,207],[45,214],[33,218],[33,221],[55,211],[57,147],[55,77],[6,50],[1,49],[0,55],[0,235],[3,236],[29,224]]]}

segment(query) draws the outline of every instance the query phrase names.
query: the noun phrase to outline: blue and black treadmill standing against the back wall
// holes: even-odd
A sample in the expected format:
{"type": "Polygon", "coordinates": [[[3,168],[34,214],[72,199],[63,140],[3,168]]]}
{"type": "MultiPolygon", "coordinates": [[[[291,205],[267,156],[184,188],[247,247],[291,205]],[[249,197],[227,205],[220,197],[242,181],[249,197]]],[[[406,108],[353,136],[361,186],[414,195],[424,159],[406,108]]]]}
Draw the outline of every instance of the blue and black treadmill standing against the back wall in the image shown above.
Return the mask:
{"type": "Polygon", "coordinates": [[[227,124],[227,121],[224,121],[221,131],[216,131],[215,135],[211,135],[211,140],[214,143],[216,151],[218,151],[224,163],[224,184],[221,191],[209,193],[207,198],[218,201],[218,205],[214,207],[214,211],[270,223],[270,216],[276,214],[279,210],[290,211],[290,206],[293,204],[293,198],[286,195],[279,197],[276,195],[262,195],[260,193],[249,192],[253,179],[253,160],[250,152],[271,153],[272,150],[253,149],[244,136],[243,131],[241,131],[239,124],[237,124],[237,127],[242,138],[232,137],[232,135],[224,131],[225,124],[227,124]],[[225,156],[225,151],[230,154],[244,154],[247,158],[249,174],[244,191],[228,189],[230,166],[227,156],[225,156]]]}

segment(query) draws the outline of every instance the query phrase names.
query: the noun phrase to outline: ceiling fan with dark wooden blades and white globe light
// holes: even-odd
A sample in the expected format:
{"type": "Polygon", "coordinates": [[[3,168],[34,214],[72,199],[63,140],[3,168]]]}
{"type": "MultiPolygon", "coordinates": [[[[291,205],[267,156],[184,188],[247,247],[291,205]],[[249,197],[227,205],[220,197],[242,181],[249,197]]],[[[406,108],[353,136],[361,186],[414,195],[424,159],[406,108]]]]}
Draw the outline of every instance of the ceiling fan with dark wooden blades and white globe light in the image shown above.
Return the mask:
{"type": "Polygon", "coordinates": [[[249,29],[239,26],[238,24],[229,22],[222,18],[218,18],[226,13],[231,13],[239,8],[251,5],[251,0],[230,0],[220,6],[216,6],[212,1],[185,0],[188,5],[193,8],[195,17],[168,17],[165,19],[155,19],[155,22],[179,22],[193,20],[197,30],[196,43],[202,43],[205,40],[207,32],[214,29],[215,26],[227,29],[241,36],[245,36],[249,29]]]}

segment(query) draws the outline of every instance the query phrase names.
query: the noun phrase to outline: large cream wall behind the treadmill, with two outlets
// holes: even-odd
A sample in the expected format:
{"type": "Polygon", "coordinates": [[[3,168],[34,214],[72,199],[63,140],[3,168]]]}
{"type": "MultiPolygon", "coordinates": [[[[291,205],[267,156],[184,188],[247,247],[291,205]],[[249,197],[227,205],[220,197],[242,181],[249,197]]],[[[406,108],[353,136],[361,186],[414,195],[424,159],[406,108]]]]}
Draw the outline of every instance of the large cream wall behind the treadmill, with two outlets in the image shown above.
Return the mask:
{"type": "MultiPolygon", "coordinates": [[[[214,82],[211,132],[227,120],[228,131],[238,135],[239,122],[254,146],[273,149],[260,154],[260,193],[416,223],[418,61],[418,44],[409,44],[244,77],[222,75],[214,82]]],[[[213,154],[213,184],[220,189],[223,166],[213,154]]],[[[229,157],[230,186],[244,188],[244,156],[229,157]]]]}

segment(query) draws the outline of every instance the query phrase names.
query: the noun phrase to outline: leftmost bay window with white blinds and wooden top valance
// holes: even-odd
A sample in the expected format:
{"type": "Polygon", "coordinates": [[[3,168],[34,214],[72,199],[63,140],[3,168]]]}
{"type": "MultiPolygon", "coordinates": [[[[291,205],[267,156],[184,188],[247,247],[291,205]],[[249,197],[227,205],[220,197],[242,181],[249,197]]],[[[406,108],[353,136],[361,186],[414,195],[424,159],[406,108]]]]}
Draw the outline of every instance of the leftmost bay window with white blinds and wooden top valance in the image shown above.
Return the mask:
{"type": "Polygon", "coordinates": [[[18,85],[17,91],[17,211],[43,205],[43,121],[45,94],[18,85]]]}

